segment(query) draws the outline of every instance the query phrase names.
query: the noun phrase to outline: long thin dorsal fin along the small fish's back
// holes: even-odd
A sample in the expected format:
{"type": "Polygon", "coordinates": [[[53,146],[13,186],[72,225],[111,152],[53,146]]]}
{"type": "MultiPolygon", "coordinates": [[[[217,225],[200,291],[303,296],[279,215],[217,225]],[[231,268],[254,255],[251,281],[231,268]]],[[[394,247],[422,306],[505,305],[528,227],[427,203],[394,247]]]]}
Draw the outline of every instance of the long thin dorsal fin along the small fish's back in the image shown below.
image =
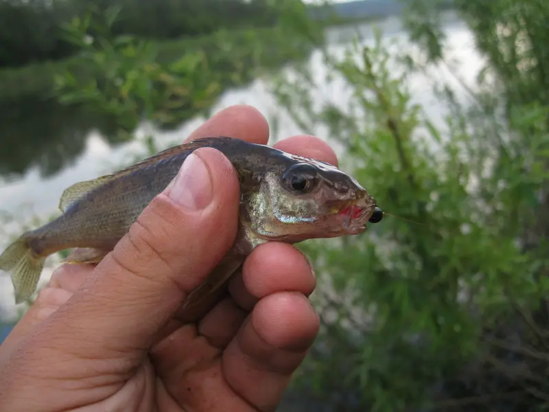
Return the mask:
{"type": "Polygon", "coordinates": [[[189,141],[186,144],[162,150],[152,157],[143,159],[139,163],[130,165],[127,168],[119,170],[118,172],[114,172],[113,174],[106,174],[105,176],[98,177],[97,179],[75,183],[67,187],[67,189],[65,189],[65,192],[63,192],[63,194],[61,195],[59,201],[59,209],[62,212],[65,212],[70,205],[72,205],[75,201],[83,198],[87,193],[91,192],[97,187],[100,187],[101,185],[104,185],[105,183],[113,181],[121,176],[125,176],[126,174],[130,174],[135,170],[145,168],[146,166],[161,161],[162,159],[172,157],[172,155],[178,155],[184,150],[192,151],[205,146],[215,146],[215,144],[218,142],[220,142],[220,138],[218,137],[206,137],[189,141]]]}

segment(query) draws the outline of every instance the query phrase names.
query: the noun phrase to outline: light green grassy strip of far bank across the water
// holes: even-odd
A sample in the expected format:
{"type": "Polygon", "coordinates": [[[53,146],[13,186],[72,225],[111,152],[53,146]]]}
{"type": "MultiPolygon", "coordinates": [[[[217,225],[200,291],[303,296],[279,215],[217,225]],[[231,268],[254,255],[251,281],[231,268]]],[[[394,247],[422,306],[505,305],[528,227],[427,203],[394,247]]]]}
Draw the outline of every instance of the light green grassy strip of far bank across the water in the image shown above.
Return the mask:
{"type": "MultiPolygon", "coordinates": [[[[169,63],[186,53],[201,50],[216,71],[232,73],[237,68],[245,78],[259,67],[279,67],[294,58],[305,58],[312,49],[310,42],[307,44],[297,37],[283,36],[280,27],[215,32],[151,43],[159,63],[169,63]]],[[[16,69],[0,69],[0,105],[27,98],[44,100],[53,97],[55,78],[65,71],[84,79],[93,79],[96,75],[84,65],[80,56],[16,69]]]]}

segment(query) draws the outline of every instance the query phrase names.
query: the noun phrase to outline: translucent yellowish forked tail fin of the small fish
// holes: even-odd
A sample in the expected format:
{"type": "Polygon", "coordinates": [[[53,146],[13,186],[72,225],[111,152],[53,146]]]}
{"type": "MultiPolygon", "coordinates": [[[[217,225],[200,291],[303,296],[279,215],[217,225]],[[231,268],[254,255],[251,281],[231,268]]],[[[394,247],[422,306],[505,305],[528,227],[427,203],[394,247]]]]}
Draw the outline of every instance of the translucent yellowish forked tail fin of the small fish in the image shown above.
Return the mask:
{"type": "Polygon", "coordinates": [[[8,272],[15,289],[15,304],[29,299],[44,267],[45,258],[34,253],[25,236],[10,244],[0,255],[0,270],[8,272]]]}

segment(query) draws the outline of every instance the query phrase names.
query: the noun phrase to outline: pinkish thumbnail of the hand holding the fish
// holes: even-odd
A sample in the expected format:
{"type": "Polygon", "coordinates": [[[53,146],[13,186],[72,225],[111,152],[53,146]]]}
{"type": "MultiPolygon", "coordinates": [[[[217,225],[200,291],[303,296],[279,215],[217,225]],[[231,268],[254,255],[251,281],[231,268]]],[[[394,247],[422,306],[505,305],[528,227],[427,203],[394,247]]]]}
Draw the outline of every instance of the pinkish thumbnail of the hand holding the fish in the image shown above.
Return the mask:
{"type": "Polygon", "coordinates": [[[183,207],[201,210],[211,203],[213,194],[209,170],[194,153],[187,156],[170,186],[168,196],[183,207]]]}

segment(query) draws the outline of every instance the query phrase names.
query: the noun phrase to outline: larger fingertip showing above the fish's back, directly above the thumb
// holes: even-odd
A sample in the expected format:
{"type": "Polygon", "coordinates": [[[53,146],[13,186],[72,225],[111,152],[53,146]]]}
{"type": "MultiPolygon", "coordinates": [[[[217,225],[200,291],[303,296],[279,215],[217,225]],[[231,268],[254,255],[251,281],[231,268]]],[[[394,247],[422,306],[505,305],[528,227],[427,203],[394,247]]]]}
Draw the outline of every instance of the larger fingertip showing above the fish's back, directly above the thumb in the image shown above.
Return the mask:
{"type": "Polygon", "coordinates": [[[250,143],[267,144],[269,124],[264,115],[252,106],[237,104],[215,113],[194,130],[185,143],[203,137],[235,137],[250,143]]]}

